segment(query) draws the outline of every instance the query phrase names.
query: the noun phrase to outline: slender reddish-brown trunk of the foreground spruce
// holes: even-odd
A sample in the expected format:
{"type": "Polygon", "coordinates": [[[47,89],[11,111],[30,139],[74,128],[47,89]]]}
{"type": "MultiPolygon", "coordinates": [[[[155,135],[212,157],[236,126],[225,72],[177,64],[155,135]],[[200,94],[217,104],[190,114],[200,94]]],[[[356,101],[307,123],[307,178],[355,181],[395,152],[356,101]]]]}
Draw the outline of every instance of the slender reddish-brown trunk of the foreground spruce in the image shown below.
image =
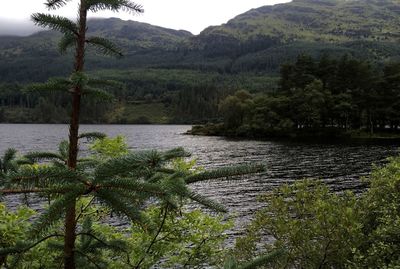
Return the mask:
{"type": "MultiPolygon", "coordinates": [[[[85,57],[86,18],[87,10],[81,0],[79,7],[79,36],[75,52],[75,72],[82,72],[85,57]]],[[[68,167],[75,170],[78,159],[78,135],[79,114],[81,105],[81,87],[76,86],[72,94],[72,114],[69,128],[69,156],[68,167]]],[[[76,212],[73,203],[67,210],[65,216],[65,238],[64,238],[64,268],[75,269],[75,238],[76,238],[76,212]]]]}

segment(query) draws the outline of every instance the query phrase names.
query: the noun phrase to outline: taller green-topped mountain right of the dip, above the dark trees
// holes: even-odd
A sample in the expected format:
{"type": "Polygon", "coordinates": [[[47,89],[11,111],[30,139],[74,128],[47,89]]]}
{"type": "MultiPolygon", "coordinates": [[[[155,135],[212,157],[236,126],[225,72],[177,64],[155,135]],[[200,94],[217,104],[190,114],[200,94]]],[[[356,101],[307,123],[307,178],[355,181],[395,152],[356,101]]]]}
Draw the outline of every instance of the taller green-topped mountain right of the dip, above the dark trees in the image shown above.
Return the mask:
{"type": "Polygon", "coordinates": [[[232,71],[276,70],[306,52],[370,60],[400,55],[397,0],[294,0],[243,13],[193,37],[208,58],[228,56],[232,71]]]}

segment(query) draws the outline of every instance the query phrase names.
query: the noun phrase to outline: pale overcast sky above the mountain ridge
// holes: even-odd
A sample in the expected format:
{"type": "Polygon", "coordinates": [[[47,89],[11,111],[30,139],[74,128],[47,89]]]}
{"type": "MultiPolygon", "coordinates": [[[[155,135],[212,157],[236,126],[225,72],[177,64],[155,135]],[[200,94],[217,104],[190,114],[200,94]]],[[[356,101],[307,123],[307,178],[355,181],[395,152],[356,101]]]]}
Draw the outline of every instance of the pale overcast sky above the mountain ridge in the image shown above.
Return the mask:
{"type": "MultiPolygon", "coordinates": [[[[45,0],[0,0],[0,34],[26,35],[37,31],[29,17],[34,12],[48,12],[43,2],[45,0]]],[[[51,13],[74,18],[77,2],[72,0],[51,13]]],[[[138,0],[136,3],[143,5],[144,14],[100,12],[89,17],[119,17],[198,34],[210,25],[225,23],[249,9],[284,2],[290,0],[138,0]]]]}

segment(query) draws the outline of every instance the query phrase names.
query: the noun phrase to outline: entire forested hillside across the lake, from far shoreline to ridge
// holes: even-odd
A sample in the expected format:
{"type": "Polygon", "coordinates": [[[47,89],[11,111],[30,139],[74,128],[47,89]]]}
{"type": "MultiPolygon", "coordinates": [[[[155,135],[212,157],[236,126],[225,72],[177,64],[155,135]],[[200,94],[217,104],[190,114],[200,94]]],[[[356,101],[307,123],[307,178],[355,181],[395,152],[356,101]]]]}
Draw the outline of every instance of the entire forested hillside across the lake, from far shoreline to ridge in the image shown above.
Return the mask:
{"type": "MultiPolygon", "coordinates": [[[[107,110],[98,109],[101,116],[94,116],[90,109],[95,106],[88,105],[84,120],[192,123],[217,119],[218,102],[237,90],[278,90],[281,65],[300,54],[316,59],[348,55],[382,72],[386,63],[400,59],[399,15],[400,3],[394,0],[294,0],[252,9],[197,36],[135,21],[93,19],[88,35],[109,37],[123,48],[124,57],[90,54],[86,68],[107,78],[118,77],[126,87],[117,92],[118,102],[107,110]],[[161,112],[153,115],[146,110],[161,112]]],[[[31,111],[40,113],[40,98],[29,98],[21,90],[24,84],[68,74],[72,57],[57,52],[59,38],[52,31],[0,36],[0,119],[63,121],[68,108],[60,106],[61,101],[42,100],[42,105],[62,111],[54,114],[57,117],[40,119],[31,111]]]]}

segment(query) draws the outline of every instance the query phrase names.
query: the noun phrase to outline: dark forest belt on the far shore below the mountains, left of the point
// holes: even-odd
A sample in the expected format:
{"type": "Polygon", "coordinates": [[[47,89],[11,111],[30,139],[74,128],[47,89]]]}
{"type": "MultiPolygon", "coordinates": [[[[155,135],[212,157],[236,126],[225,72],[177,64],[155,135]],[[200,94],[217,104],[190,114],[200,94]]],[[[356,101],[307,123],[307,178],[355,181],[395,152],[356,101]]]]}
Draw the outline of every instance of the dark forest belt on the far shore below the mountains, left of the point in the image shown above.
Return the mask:
{"type": "MultiPolygon", "coordinates": [[[[83,103],[85,123],[201,123],[217,117],[218,103],[228,94],[243,88],[264,92],[277,85],[276,77],[257,74],[159,69],[94,74],[121,81],[121,87],[109,89],[112,102],[83,103]]],[[[65,123],[70,111],[68,95],[33,93],[30,86],[0,84],[0,122],[65,123]]]]}

